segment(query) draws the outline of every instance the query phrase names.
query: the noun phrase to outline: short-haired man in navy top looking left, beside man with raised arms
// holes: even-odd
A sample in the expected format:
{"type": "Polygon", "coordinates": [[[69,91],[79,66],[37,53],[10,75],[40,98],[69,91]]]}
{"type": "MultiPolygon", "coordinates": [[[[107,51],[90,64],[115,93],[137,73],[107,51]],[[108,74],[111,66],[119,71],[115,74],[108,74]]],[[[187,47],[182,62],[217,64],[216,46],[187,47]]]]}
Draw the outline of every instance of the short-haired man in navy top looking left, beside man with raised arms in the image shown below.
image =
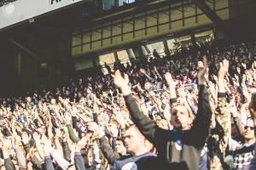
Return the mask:
{"type": "MultiPolygon", "coordinates": [[[[102,135],[100,135],[102,136],[102,135]]],[[[122,141],[119,140],[122,143],[122,141]]],[[[113,170],[121,169],[154,169],[156,156],[150,152],[153,145],[139,132],[136,126],[127,127],[124,134],[124,142],[129,155],[122,155],[117,145],[113,150],[104,136],[100,137],[102,153],[113,165],[113,170]]],[[[118,144],[118,142],[116,143],[118,144]]]]}

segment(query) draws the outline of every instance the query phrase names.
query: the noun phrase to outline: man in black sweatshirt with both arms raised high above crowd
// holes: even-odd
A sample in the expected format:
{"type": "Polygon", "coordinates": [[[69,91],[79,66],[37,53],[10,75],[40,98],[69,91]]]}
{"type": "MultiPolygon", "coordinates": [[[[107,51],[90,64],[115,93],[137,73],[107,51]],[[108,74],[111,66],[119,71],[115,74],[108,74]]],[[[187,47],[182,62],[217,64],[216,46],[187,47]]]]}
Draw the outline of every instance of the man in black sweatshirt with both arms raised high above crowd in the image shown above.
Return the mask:
{"type": "MultiPolygon", "coordinates": [[[[171,123],[173,130],[165,130],[156,125],[139,109],[136,99],[131,95],[127,75],[122,77],[119,71],[115,72],[113,82],[124,94],[125,104],[131,114],[132,121],[143,135],[156,147],[161,169],[189,169],[198,170],[201,149],[203,148],[211,122],[212,111],[209,105],[205,74],[207,73],[207,58],[198,71],[199,104],[198,112],[191,127],[192,118],[188,109],[183,105],[172,105],[171,123]],[[171,167],[172,163],[183,164],[184,167],[171,167]]],[[[166,82],[171,92],[171,103],[175,103],[176,84],[170,73],[166,73],[166,82]]]]}

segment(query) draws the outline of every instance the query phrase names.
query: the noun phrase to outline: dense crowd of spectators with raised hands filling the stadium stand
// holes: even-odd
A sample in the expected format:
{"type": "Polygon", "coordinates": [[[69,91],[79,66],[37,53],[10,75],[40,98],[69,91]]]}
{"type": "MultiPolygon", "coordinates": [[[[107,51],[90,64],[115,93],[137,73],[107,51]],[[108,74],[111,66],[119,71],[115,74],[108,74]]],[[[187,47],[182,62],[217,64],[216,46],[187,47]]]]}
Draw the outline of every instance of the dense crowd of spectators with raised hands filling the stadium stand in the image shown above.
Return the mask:
{"type": "Polygon", "coordinates": [[[154,56],[1,98],[1,169],[255,170],[256,43],[154,56]]]}

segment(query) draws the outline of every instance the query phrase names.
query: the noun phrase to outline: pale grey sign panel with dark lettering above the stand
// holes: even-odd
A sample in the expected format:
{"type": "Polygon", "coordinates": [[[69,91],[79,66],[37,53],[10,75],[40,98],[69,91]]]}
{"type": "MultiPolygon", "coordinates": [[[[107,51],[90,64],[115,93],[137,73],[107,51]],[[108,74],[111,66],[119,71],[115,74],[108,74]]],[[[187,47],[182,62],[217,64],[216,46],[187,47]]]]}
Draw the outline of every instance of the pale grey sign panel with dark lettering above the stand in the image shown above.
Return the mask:
{"type": "Polygon", "coordinates": [[[82,0],[0,0],[0,30],[82,0]]]}

